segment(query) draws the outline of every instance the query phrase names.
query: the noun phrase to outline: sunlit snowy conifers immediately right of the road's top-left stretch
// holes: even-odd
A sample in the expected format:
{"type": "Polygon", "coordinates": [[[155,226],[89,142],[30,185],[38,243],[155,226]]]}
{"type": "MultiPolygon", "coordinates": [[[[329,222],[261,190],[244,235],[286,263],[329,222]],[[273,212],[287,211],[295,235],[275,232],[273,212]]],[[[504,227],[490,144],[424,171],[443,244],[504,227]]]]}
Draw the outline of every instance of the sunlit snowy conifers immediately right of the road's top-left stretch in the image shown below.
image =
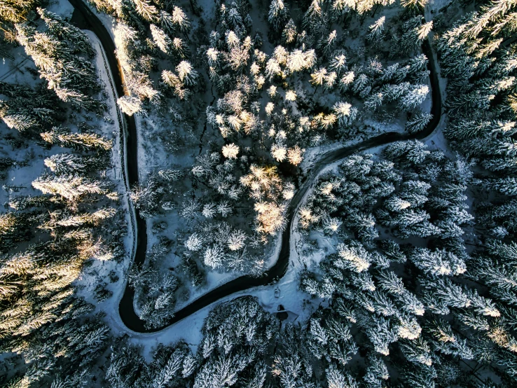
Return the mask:
{"type": "MultiPolygon", "coordinates": [[[[148,0],[91,0],[99,11],[113,15],[117,57],[123,71],[126,94],[118,99],[127,115],[147,116],[151,107],[167,107],[174,97],[191,104],[193,92],[202,90],[200,75],[192,64],[191,22],[184,10],[172,2],[148,0]],[[151,73],[161,70],[161,83],[151,73]],[[151,103],[151,105],[146,104],[151,103]]],[[[197,97],[196,97],[197,98],[197,97]]]]}

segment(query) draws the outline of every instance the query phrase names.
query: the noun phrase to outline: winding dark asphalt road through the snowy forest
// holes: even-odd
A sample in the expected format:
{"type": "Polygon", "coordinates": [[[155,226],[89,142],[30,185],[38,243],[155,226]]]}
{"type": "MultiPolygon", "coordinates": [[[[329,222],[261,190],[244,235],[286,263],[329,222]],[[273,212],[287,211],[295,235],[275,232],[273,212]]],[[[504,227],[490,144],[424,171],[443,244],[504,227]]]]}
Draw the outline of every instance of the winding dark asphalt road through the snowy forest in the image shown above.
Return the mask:
{"type": "MultiPolygon", "coordinates": [[[[124,94],[123,91],[123,80],[122,74],[120,70],[120,65],[115,56],[115,43],[113,43],[113,39],[111,39],[111,35],[106,30],[102,22],[97,18],[97,15],[93,13],[88,6],[86,6],[82,0],[69,0],[69,2],[74,6],[74,17],[73,21],[83,29],[90,29],[94,32],[99,41],[106,52],[106,57],[109,63],[109,67],[111,69],[111,74],[113,74],[113,78],[115,81],[115,88],[118,96],[124,94]]],[[[298,188],[298,192],[294,195],[294,198],[291,200],[289,207],[287,209],[287,228],[285,228],[282,233],[282,247],[280,249],[280,254],[278,259],[268,271],[264,272],[261,277],[251,277],[251,276],[242,276],[237,277],[228,283],[225,283],[208,293],[200,296],[200,298],[193,300],[193,302],[181,310],[175,312],[174,317],[169,321],[168,324],[149,329],[144,326],[145,322],[140,319],[140,317],[135,312],[135,308],[133,305],[133,299],[135,297],[135,291],[130,288],[127,284],[125,285],[124,295],[120,300],[120,304],[118,306],[118,312],[120,314],[120,319],[123,321],[125,326],[138,333],[152,333],[155,331],[160,331],[170,326],[181,319],[188,317],[189,315],[201,310],[203,307],[207,307],[208,305],[216,302],[221,298],[225,298],[226,296],[230,296],[232,293],[236,293],[239,291],[245,291],[247,289],[251,289],[256,286],[266,286],[268,284],[274,284],[281,279],[285,273],[287,272],[287,268],[289,267],[289,254],[291,251],[291,228],[293,226],[294,215],[296,214],[296,210],[298,206],[301,205],[301,200],[305,196],[305,193],[312,186],[313,181],[319,174],[319,172],[324,169],[327,165],[336,162],[340,159],[346,158],[349,155],[354,153],[365,151],[368,148],[373,148],[377,146],[385,146],[387,144],[392,143],[393,141],[400,140],[411,140],[411,139],[424,139],[431,135],[436,127],[440,123],[441,120],[441,92],[439,88],[439,79],[438,74],[436,73],[436,65],[434,62],[434,55],[432,53],[431,45],[428,40],[425,40],[422,44],[422,51],[429,59],[427,67],[430,71],[430,81],[431,81],[431,93],[432,93],[432,107],[431,113],[433,115],[432,120],[429,122],[425,130],[418,132],[416,134],[401,134],[399,132],[386,132],[384,134],[380,134],[376,137],[372,137],[366,141],[363,141],[359,144],[355,144],[353,146],[346,146],[343,148],[338,148],[334,151],[330,151],[328,153],[324,153],[321,158],[317,162],[315,162],[314,166],[308,172],[308,176],[305,181],[302,183],[301,187],[298,188]]],[[[126,161],[127,161],[127,178],[130,186],[138,183],[138,160],[137,160],[137,127],[135,125],[135,118],[132,116],[124,115],[124,118],[127,123],[127,141],[124,142],[126,146],[126,161]]],[[[122,150],[124,151],[124,150],[122,150]]],[[[147,249],[147,228],[146,221],[139,216],[138,209],[135,209],[136,214],[136,250],[135,256],[133,258],[132,265],[141,265],[145,261],[146,257],[146,249],[147,249]]]]}

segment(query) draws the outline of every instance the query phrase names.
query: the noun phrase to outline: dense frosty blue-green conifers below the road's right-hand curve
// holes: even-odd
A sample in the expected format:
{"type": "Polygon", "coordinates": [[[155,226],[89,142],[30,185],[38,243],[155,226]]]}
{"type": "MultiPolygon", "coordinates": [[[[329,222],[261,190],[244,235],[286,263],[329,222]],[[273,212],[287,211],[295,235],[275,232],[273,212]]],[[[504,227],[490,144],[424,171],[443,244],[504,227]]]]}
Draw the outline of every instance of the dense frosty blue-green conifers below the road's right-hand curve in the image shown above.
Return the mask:
{"type": "Polygon", "coordinates": [[[301,210],[301,226],[337,237],[335,253],[301,278],[302,289],[329,300],[310,321],[313,354],[332,368],[368,349],[364,380],[373,386],[395,379],[392,370],[416,387],[466,384],[462,369],[474,365],[511,385],[516,246],[487,239],[467,249],[473,163],[418,141],[383,155],[347,158],[301,210]]]}

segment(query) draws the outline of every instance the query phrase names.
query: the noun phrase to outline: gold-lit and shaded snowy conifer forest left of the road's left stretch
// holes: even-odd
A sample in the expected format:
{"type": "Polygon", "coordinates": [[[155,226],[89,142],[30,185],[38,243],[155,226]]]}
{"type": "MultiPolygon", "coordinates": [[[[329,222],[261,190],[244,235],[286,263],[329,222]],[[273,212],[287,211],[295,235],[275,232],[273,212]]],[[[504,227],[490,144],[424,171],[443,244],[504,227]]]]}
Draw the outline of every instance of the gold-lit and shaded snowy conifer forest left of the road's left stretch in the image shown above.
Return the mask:
{"type": "MultiPolygon", "coordinates": [[[[110,165],[111,140],[71,118],[81,109],[99,111],[103,106],[92,97],[99,84],[90,41],[41,8],[41,20],[26,24],[34,3],[7,1],[0,6],[2,18],[18,23],[11,24],[16,39],[46,79],[34,87],[1,83],[1,118],[9,131],[2,129],[1,148],[13,148],[17,158],[23,148],[39,145],[51,151],[39,160],[43,174],[32,182],[31,195],[4,186],[9,197],[6,212],[0,214],[0,384],[87,386],[110,329],[103,313],[95,314],[95,305],[79,296],[76,284],[93,259],[123,259],[127,226],[113,202],[118,200],[113,183],[99,174],[110,165]],[[106,221],[115,228],[106,230],[106,221]]],[[[3,166],[16,174],[17,168],[34,163],[36,151],[30,156],[30,149],[25,161],[3,166]]],[[[99,295],[110,296],[102,287],[99,295]]]]}

